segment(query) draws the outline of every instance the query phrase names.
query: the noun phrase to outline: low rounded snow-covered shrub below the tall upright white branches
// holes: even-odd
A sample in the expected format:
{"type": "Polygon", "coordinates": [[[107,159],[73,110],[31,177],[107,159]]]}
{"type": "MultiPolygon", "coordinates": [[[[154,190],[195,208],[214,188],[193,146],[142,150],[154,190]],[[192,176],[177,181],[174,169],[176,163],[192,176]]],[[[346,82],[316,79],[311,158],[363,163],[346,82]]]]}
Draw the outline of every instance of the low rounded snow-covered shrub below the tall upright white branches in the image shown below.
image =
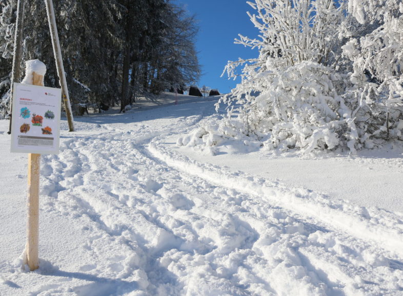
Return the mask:
{"type": "Polygon", "coordinates": [[[301,62],[284,72],[261,72],[258,77],[253,87],[257,95],[243,88],[255,82],[246,79],[220,102],[230,106],[223,125],[231,126],[235,135],[239,131],[262,140],[269,149],[354,149],[358,134],[352,109],[358,102],[346,102],[338,94],[338,88],[345,88],[345,77],[314,62],[301,62]]]}

